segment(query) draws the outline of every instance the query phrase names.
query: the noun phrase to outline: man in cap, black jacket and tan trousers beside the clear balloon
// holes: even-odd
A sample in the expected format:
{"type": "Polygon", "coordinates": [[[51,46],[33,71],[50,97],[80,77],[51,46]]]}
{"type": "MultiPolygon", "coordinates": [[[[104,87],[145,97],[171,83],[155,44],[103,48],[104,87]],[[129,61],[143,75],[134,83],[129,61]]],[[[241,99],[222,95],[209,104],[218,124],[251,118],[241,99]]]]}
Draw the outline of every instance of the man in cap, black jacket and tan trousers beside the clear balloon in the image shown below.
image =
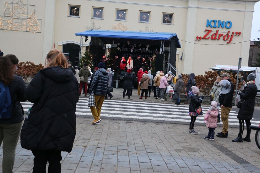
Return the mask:
{"type": "Polygon", "coordinates": [[[230,82],[231,88],[227,94],[220,94],[218,101],[221,105],[221,120],[223,122],[222,132],[218,133],[216,136],[220,138],[228,137],[228,116],[229,112],[232,110],[232,101],[234,95],[234,84],[230,80],[229,73],[223,73],[220,75],[222,80],[228,80],[230,82]]]}

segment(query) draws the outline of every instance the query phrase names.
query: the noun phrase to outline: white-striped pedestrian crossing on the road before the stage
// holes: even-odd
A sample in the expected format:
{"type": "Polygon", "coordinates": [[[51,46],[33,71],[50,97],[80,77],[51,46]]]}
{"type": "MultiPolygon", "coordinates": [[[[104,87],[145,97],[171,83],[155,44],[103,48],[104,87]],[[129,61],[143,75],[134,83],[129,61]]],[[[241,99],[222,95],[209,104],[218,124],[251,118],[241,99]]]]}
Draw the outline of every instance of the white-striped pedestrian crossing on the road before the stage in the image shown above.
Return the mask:
{"type": "MultiPolygon", "coordinates": [[[[79,98],[76,108],[77,117],[93,118],[87,104],[88,98],[79,98]]],[[[30,102],[22,102],[24,111],[32,107],[30,102]]],[[[202,106],[204,112],[208,107],[202,106]]],[[[190,123],[189,105],[175,105],[168,102],[147,102],[131,100],[105,100],[101,109],[101,119],[118,119],[145,122],[190,123]]],[[[204,123],[204,115],[198,116],[196,123],[204,123]]],[[[218,123],[222,124],[222,122],[218,123]]],[[[251,120],[252,125],[259,125],[259,121],[251,120]]],[[[239,126],[237,112],[230,111],[229,125],[239,126]]]]}

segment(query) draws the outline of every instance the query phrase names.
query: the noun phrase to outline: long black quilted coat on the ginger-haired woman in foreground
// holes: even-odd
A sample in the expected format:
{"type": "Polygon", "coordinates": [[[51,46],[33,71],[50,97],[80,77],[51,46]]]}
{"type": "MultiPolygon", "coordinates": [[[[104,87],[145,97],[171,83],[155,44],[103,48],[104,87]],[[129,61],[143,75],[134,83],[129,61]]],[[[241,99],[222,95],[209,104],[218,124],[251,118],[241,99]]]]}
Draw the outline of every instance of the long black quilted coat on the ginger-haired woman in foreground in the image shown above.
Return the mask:
{"type": "Polygon", "coordinates": [[[76,135],[78,81],[70,69],[52,66],[40,70],[26,88],[34,103],[21,131],[27,150],[72,150],[76,135]]]}

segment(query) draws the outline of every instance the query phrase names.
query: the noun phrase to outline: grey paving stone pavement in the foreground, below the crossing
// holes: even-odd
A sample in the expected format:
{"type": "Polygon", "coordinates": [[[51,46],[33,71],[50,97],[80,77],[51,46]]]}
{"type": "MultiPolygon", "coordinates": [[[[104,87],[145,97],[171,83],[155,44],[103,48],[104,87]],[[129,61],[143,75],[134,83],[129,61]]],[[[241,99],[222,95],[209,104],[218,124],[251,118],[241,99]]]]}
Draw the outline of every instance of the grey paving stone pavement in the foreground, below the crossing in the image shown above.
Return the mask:
{"type": "MultiPolygon", "coordinates": [[[[73,149],[62,152],[63,173],[260,172],[254,131],[251,142],[233,143],[238,128],[230,128],[228,138],[210,141],[203,138],[206,125],[195,125],[199,134],[192,135],[188,125],[117,120],[92,125],[91,121],[77,118],[73,149]]],[[[221,127],[215,130],[220,131],[221,127]]],[[[0,148],[1,172],[2,157],[0,148]]],[[[14,173],[32,172],[33,158],[19,140],[14,173]]]]}

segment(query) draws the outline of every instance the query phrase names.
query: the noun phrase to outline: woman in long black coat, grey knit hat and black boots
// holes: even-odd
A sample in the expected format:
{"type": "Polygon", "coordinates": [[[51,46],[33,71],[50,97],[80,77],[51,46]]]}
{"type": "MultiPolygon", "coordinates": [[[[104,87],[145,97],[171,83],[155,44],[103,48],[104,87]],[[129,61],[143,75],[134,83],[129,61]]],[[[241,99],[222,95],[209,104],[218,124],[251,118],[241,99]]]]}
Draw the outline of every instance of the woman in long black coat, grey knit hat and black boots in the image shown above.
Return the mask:
{"type": "Polygon", "coordinates": [[[236,139],[232,140],[232,142],[251,142],[250,133],[251,129],[249,129],[249,125],[251,125],[250,120],[253,118],[253,113],[255,110],[255,97],[257,94],[257,86],[255,85],[255,73],[250,73],[247,76],[247,83],[243,81],[244,88],[243,91],[239,92],[241,98],[241,107],[238,111],[238,121],[239,121],[239,134],[236,139]],[[242,138],[244,132],[244,121],[247,125],[247,136],[242,138]]]}

